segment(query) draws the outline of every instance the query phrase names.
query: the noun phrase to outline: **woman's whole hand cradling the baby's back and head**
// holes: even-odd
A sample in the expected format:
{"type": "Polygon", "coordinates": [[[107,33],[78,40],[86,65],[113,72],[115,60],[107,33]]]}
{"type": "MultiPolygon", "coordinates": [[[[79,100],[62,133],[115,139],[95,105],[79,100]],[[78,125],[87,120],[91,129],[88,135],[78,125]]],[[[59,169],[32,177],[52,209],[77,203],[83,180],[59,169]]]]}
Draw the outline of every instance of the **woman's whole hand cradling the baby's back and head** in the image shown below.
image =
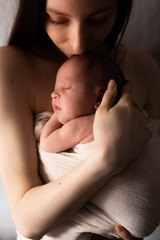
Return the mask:
{"type": "Polygon", "coordinates": [[[116,95],[117,86],[111,80],[93,125],[94,150],[105,156],[106,166],[113,174],[140,153],[151,135],[142,113],[131,100],[130,83],[125,85],[119,102],[113,106],[116,95]]]}

